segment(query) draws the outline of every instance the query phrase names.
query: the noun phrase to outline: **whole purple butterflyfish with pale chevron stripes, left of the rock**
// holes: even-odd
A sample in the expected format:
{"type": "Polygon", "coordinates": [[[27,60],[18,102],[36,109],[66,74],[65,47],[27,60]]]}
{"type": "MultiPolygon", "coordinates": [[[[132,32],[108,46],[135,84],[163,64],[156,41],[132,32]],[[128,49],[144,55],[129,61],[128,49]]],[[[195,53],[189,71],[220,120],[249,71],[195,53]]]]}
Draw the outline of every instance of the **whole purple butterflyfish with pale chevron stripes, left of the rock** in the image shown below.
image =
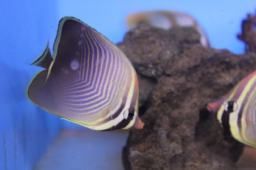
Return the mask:
{"type": "Polygon", "coordinates": [[[31,65],[46,70],[31,79],[26,95],[47,112],[94,130],[143,128],[133,65],[79,19],[62,18],[52,56],[47,44],[31,65]]]}

